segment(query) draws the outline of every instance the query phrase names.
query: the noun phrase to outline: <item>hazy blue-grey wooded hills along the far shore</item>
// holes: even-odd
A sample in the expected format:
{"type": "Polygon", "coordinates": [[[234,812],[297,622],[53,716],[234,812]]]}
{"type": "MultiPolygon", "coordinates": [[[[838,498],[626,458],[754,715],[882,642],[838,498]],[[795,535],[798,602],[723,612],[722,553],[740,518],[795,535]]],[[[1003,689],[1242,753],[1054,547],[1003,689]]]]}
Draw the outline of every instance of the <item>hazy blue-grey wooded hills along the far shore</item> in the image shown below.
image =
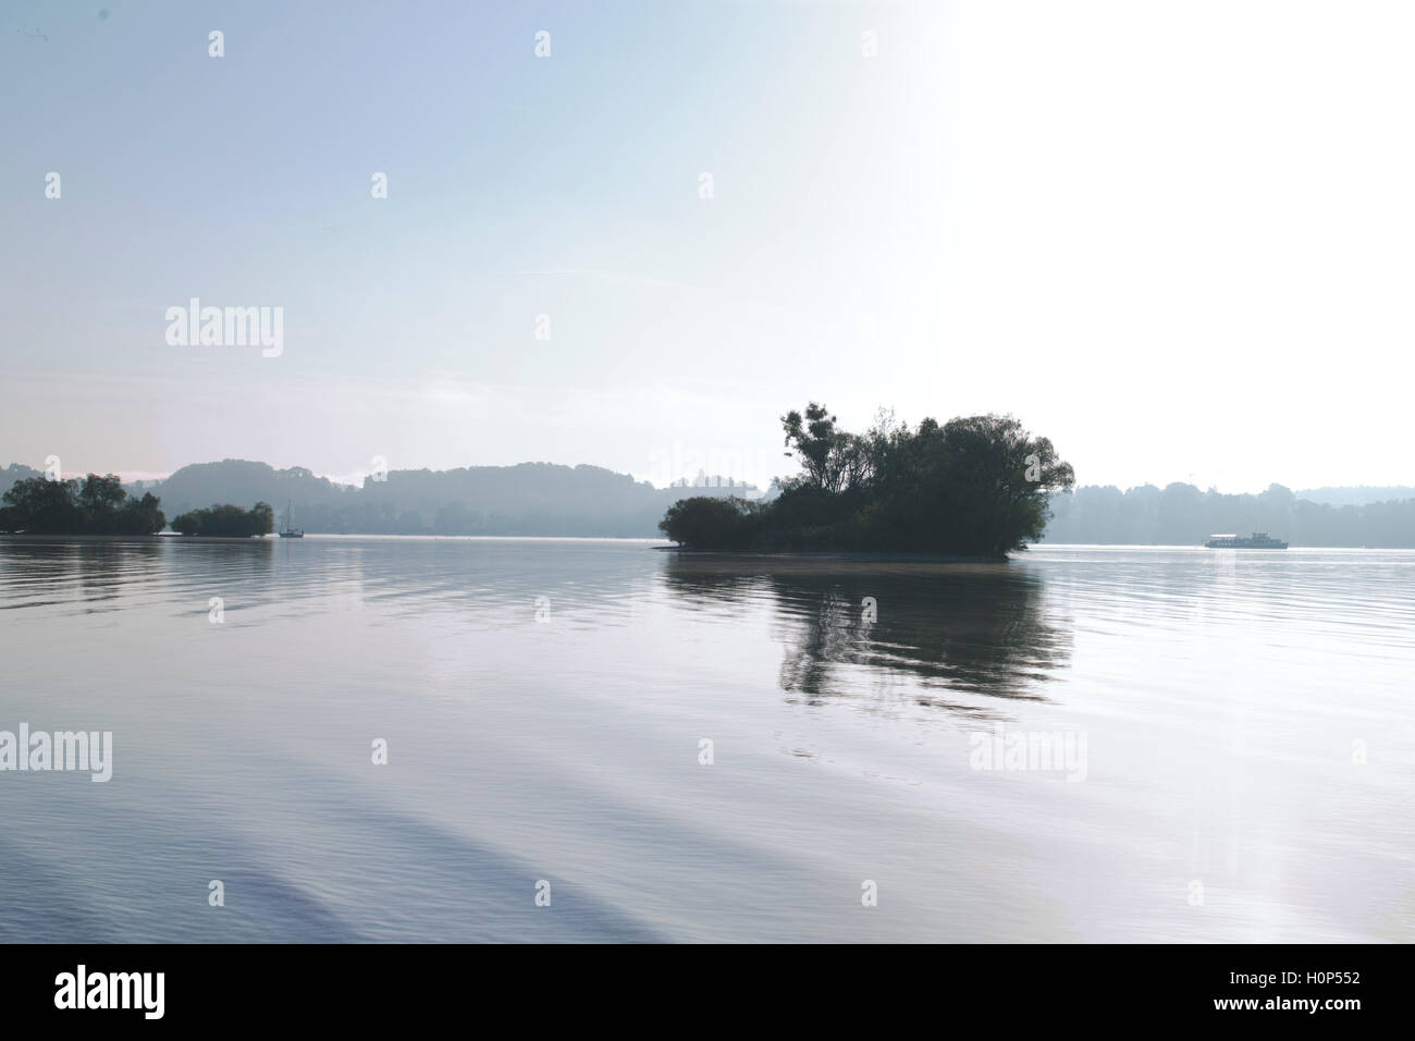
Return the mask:
{"type": "MultiPolygon", "coordinates": [[[[0,494],[42,477],[23,463],[0,469],[0,494]]],[[[599,466],[519,463],[457,470],[391,470],[386,480],[351,487],[303,466],[224,459],[184,466],[166,480],[134,482],[161,499],[168,518],[214,503],[275,507],[289,501],[310,533],[437,535],[577,535],[657,538],[658,521],[679,499],[743,496],[758,489],[726,477],[655,489],[599,466]],[[720,482],[720,486],[719,483],[720,482]]],[[[140,487],[139,487],[140,486],[140,487]]],[[[771,497],[775,489],[768,489],[771,497]]],[[[1199,545],[1215,531],[1269,531],[1293,545],[1415,547],[1415,489],[1329,487],[1295,493],[1281,484],[1251,496],[1153,484],[1121,491],[1085,486],[1051,500],[1047,542],[1199,545]]]]}

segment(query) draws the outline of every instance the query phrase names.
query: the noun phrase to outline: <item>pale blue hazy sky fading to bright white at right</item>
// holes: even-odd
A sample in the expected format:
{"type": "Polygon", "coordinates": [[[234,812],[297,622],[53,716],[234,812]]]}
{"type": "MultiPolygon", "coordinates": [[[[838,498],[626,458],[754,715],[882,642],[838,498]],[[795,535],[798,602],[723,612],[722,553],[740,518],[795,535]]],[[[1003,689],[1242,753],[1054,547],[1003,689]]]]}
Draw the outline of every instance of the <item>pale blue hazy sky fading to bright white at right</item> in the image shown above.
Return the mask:
{"type": "Polygon", "coordinates": [[[1411,54],[1409,3],[7,0],[0,463],[766,483],[815,398],[1411,484],[1411,54]],[[283,353],[170,346],[190,297],[283,353]]]}

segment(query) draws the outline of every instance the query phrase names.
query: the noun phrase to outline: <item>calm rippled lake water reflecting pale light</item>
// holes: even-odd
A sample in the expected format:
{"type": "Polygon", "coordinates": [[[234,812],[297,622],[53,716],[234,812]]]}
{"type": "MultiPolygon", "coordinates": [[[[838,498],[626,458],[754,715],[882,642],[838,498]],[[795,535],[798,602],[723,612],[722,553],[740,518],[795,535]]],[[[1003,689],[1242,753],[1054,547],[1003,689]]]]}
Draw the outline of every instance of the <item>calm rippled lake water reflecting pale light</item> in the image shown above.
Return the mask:
{"type": "Polygon", "coordinates": [[[0,541],[0,729],[112,732],[0,940],[1409,942],[1412,636],[1411,551],[0,541]]]}

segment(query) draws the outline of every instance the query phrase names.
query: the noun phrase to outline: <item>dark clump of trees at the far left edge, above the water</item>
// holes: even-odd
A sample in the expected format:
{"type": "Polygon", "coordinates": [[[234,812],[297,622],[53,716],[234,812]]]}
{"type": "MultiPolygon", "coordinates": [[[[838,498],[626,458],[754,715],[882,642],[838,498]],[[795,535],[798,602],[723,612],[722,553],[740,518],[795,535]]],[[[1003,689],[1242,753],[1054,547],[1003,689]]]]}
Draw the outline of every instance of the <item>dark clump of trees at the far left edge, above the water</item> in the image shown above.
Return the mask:
{"type": "Polygon", "coordinates": [[[0,531],[28,535],[156,535],[167,527],[151,493],[133,499],[117,474],[82,482],[28,477],[4,493],[0,531]]]}

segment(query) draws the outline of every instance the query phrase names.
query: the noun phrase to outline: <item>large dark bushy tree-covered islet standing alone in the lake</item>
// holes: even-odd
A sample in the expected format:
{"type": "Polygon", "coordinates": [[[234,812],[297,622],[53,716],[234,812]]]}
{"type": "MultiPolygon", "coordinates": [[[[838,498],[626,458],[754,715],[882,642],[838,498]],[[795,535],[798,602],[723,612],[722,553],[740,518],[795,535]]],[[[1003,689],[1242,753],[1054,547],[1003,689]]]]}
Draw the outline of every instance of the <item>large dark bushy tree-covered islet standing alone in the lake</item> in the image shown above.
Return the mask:
{"type": "Polygon", "coordinates": [[[1041,538],[1050,496],[1075,483],[1051,442],[1012,416],[924,419],[910,429],[882,414],[856,435],[812,401],[781,426],[802,473],[778,479],[777,499],[683,499],[659,530],[693,550],[1003,558],[1041,538]]]}

